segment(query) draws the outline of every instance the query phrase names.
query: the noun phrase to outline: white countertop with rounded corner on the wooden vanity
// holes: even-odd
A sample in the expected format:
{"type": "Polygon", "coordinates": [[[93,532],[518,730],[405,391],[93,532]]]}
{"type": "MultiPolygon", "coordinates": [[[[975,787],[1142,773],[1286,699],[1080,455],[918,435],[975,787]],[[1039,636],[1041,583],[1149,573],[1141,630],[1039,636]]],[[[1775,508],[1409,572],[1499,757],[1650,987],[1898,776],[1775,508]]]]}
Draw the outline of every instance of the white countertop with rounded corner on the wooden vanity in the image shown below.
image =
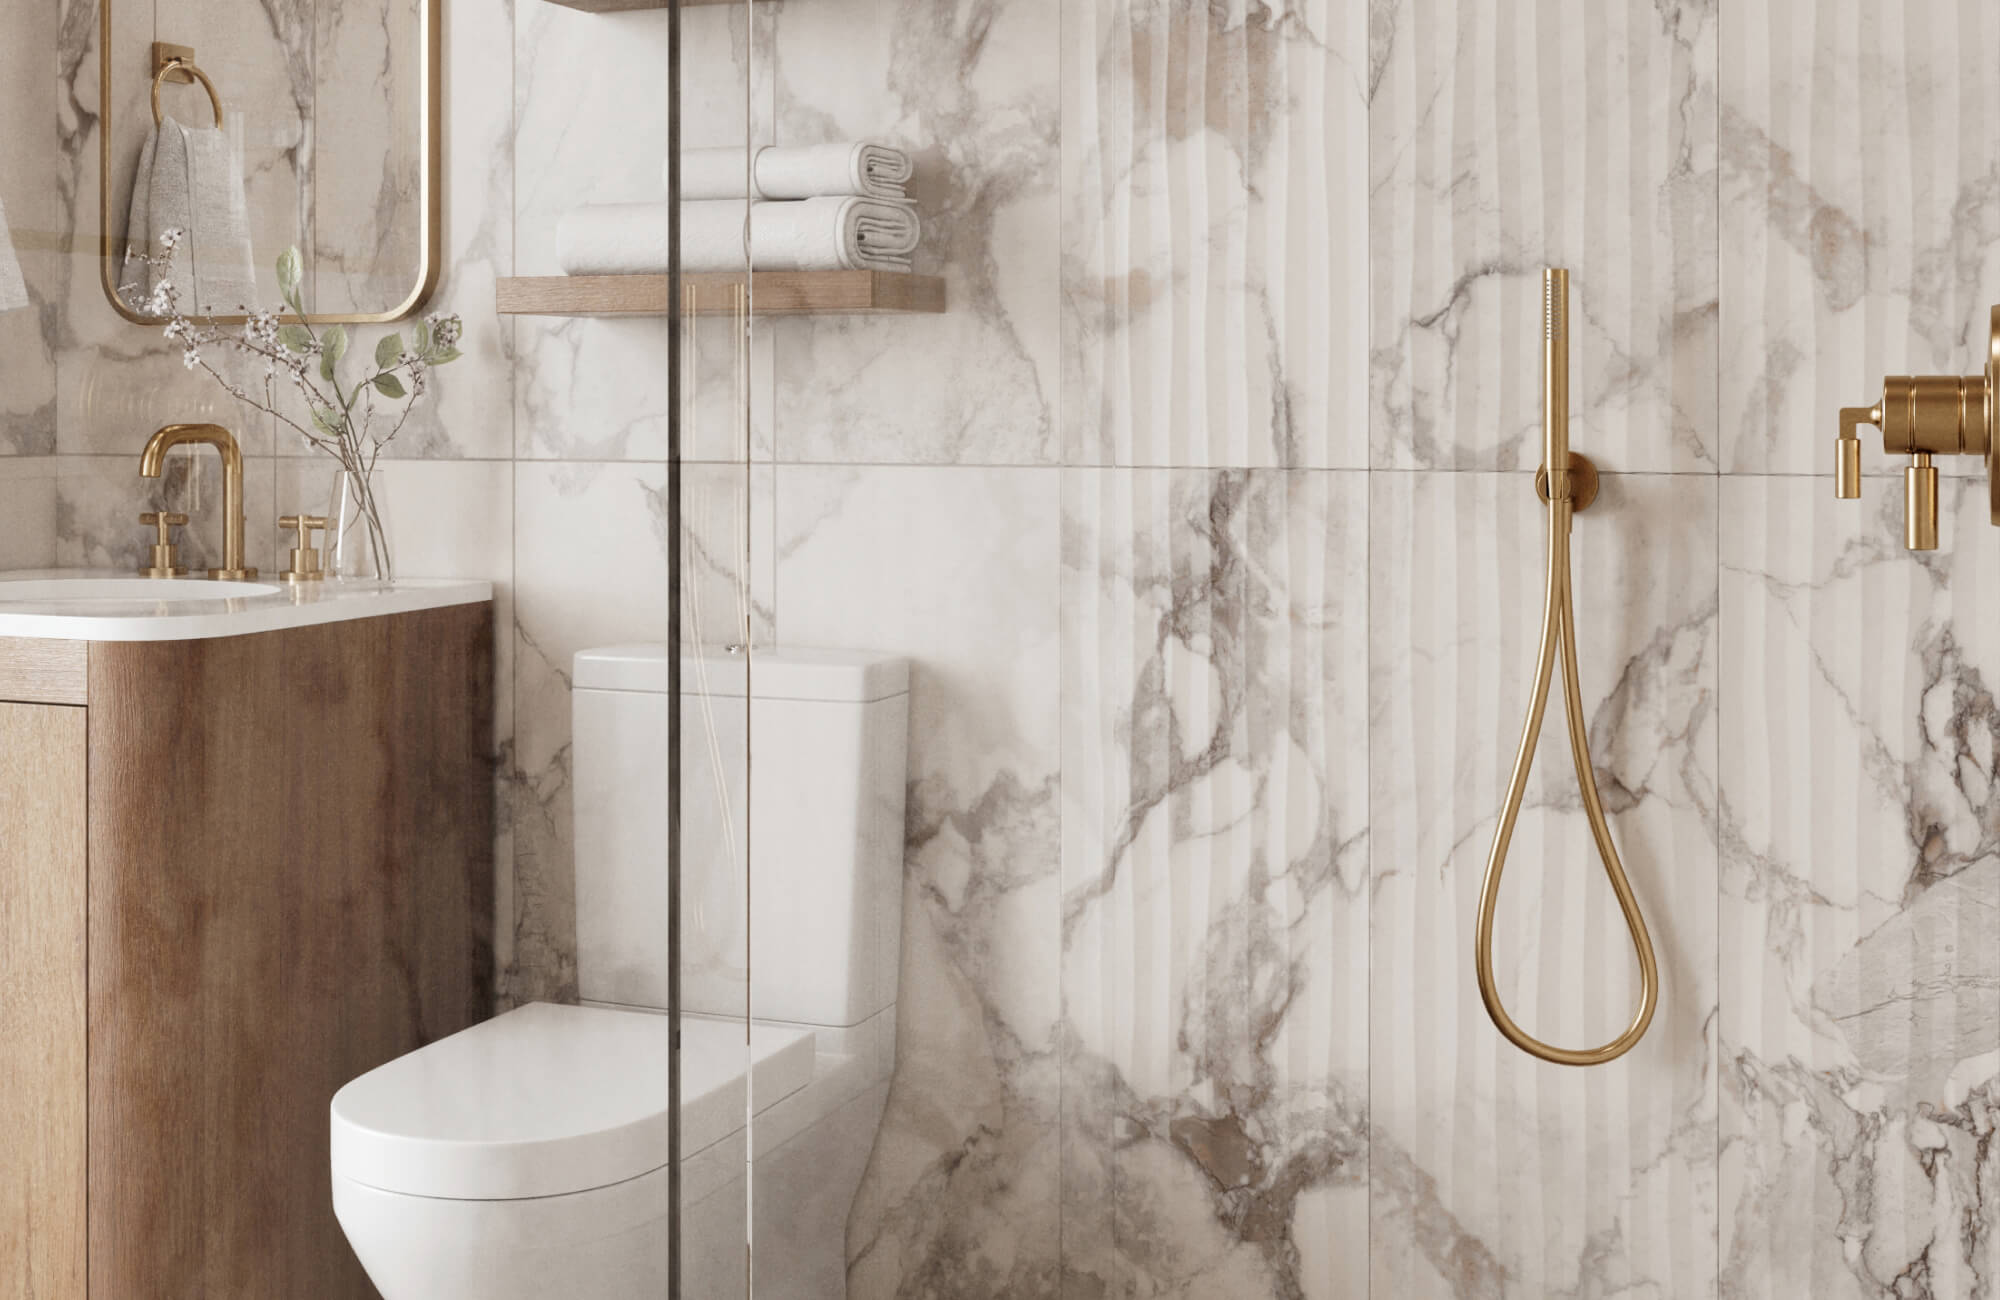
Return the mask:
{"type": "MultiPolygon", "coordinates": [[[[454,604],[492,600],[492,582],[458,578],[398,578],[382,582],[336,582],[324,578],[290,586],[276,578],[244,584],[250,596],[200,602],[132,600],[128,582],[120,582],[120,598],[102,600],[8,600],[8,582],[48,582],[74,578],[130,580],[116,570],[32,570],[0,572],[0,636],[34,636],[46,640],[202,640],[210,636],[248,636],[282,628],[308,628],[348,618],[378,618],[382,614],[414,614],[454,604]],[[276,588],[276,590],[270,590],[276,588]]],[[[202,584],[204,594],[234,586],[208,578],[158,578],[162,588],[202,584]]]]}

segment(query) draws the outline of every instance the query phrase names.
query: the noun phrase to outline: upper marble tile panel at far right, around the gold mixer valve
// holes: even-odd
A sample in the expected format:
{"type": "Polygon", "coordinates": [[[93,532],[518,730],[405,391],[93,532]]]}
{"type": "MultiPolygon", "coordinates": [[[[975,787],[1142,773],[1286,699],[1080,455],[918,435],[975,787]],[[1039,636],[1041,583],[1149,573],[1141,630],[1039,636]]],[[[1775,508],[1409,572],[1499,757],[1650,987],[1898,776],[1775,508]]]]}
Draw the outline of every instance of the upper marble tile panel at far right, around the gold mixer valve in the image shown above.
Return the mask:
{"type": "MultiPolygon", "coordinates": [[[[1722,464],[1824,474],[1884,374],[1972,374],[2000,302],[2000,12],[1720,6],[1722,464]]],[[[1880,442],[1868,468],[1884,468],[1880,442]]],[[[1944,458],[1946,474],[1978,472],[1944,458]]]]}

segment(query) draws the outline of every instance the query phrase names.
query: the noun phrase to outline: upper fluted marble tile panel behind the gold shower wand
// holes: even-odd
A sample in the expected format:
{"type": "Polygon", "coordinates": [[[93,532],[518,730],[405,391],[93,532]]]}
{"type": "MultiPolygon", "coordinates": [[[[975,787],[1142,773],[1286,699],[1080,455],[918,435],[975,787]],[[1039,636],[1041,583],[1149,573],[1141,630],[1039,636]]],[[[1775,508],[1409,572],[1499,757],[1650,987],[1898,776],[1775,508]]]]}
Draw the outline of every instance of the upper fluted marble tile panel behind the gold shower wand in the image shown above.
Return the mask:
{"type": "Polygon", "coordinates": [[[1376,466],[1538,462],[1540,272],[1572,272],[1574,438],[1716,466],[1714,4],[1372,6],[1376,466]]]}

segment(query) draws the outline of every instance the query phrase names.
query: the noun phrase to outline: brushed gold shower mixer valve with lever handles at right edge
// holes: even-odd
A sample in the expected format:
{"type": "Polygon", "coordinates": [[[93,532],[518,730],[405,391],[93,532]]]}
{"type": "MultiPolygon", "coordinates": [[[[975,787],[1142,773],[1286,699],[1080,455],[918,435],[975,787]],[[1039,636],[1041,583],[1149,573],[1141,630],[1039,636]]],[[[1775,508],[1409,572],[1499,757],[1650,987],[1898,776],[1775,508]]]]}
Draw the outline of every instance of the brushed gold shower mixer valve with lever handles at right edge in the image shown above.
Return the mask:
{"type": "Polygon", "coordinates": [[[1938,548],[1938,466],[1932,456],[1986,458],[1986,510],[2000,524],[2000,306],[1992,310],[1986,374],[1892,374],[1874,406],[1840,408],[1834,496],[1862,494],[1860,426],[1882,430],[1882,450],[1908,456],[1902,472],[1902,544],[1938,548]]]}

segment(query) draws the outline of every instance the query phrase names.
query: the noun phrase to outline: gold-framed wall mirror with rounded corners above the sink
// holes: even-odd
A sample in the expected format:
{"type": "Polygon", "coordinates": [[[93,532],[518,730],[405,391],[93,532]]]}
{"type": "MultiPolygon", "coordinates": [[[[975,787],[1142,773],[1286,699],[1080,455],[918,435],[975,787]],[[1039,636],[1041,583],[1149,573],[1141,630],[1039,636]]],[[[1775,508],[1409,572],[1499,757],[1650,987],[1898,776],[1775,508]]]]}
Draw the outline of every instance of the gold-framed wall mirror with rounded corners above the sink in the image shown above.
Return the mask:
{"type": "Polygon", "coordinates": [[[430,300],[444,252],[444,0],[322,0],[302,6],[294,28],[260,0],[98,4],[98,262],[112,310],[162,320],[140,308],[146,276],[164,272],[130,254],[152,250],[146,230],[180,228],[168,220],[176,202],[202,210],[202,196],[162,200],[144,180],[180,148],[234,158],[240,236],[230,222],[210,226],[248,244],[250,282],[218,278],[242,292],[200,314],[240,324],[222,302],[278,306],[288,246],[304,256],[314,320],[384,324],[430,300]],[[196,126],[178,128],[182,116],[196,126]]]}

